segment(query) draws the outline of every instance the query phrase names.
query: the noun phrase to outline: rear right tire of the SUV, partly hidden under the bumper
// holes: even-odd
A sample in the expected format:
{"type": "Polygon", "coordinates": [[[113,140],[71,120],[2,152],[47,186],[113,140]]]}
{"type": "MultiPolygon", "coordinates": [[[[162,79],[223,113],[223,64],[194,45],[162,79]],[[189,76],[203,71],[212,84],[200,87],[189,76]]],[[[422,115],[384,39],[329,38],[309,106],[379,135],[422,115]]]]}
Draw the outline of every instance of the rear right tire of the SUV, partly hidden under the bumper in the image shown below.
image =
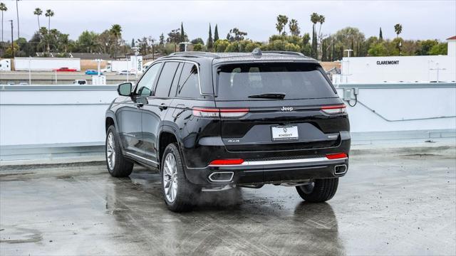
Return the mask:
{"type": "Polygon", "coordinates": [[[339,178],[319,178],[309,185],[296,186],[299,196],[309,203],[321,203],[336,194],[339,178]]]}

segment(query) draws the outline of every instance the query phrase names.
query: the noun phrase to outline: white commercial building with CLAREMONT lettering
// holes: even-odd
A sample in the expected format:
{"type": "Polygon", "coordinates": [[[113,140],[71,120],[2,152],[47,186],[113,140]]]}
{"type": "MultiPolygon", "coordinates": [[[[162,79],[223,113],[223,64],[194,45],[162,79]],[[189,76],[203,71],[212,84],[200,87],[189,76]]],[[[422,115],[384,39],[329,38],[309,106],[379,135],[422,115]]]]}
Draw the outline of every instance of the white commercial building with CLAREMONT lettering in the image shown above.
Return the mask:
{"type": "Polygon", "coordinates": [[[447,42],[447,55],[344,57],[333,83],[455,82],[456,36],[447,42]]]}

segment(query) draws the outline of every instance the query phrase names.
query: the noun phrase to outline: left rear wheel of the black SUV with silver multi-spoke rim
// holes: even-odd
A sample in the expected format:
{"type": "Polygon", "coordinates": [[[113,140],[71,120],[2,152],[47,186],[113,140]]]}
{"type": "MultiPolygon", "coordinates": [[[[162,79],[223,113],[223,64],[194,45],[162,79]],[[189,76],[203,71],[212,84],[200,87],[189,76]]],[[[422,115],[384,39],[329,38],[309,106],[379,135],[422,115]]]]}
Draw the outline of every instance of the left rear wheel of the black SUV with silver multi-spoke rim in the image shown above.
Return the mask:
{"type": "Polygon", "coordinates": [[[184,164],[176,143],[167,145],[163,152],[160,175],[167,207],[177,213],[192,210],[198,189],[185,177],[184,164]]]}

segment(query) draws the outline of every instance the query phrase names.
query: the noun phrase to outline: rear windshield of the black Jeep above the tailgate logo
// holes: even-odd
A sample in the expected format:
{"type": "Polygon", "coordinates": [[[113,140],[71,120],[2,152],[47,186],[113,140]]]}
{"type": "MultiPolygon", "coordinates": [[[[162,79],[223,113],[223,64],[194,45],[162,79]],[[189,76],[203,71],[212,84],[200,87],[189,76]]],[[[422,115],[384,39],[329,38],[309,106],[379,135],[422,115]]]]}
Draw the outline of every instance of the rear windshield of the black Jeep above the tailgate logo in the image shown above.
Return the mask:
{"type": "Polygon", "coordinates": [[[217,69],[218,100],[264,100],[249,95],[284,94],[285,100],[337,97],[328,80],[309,63],[239,63],[217,69]]]}

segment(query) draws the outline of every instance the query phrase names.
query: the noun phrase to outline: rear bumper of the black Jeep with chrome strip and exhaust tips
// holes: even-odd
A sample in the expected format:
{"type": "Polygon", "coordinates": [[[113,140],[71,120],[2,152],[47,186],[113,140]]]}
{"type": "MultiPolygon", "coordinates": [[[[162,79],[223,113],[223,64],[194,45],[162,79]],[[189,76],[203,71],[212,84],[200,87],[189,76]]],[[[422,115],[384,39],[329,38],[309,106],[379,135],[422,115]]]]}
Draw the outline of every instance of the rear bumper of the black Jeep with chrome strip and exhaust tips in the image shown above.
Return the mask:
{"type": "Polygon", "coordinates": [[[326,159],[313,157],[303,159],[245,161],[235,166],[207,166],[204,168],[187,168],[187,179],[199,186],[224,186],[227,184],[261,184],[299,182],[311,178],[336,178],[346,174],[348,158],[326,159]],[[339,166],[335,171],[336,166],[339,166]],[[213,181],[209,178],[214,173],[232,173],[227,181],[213,181]]]}

